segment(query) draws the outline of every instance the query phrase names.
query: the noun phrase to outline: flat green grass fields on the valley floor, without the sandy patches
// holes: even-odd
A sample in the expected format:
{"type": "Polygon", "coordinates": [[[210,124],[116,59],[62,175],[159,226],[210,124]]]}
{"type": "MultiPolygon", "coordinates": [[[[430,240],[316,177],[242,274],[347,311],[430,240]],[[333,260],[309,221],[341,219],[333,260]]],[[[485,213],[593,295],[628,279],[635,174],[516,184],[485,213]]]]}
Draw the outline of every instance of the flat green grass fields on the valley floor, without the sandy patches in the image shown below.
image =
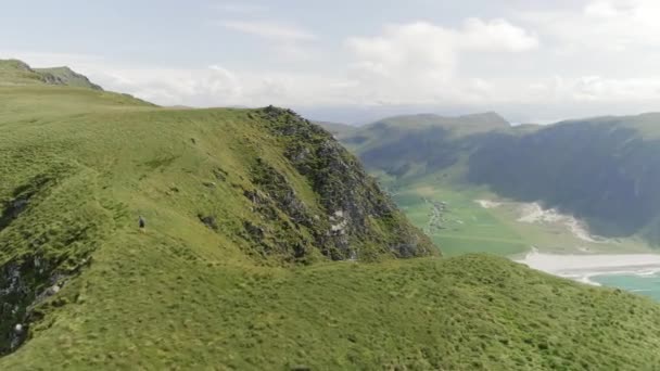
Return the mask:
{"type": "Polygon", "coordinates": [[[543,252],[567,254],[588,250],[592,253],[648,253],[646,243],[635,239],[607,240],[592,243],[578,236],[561,222],[529,223],[518,219],[522,203],[502,200],[483,189],[437,181],[435,177],[415,179],[398,186],[394,200],[410,221],[427,232],[442,246],[445,256],[467,253],[490,253],[499,256],[519,256],[532,246],[543,252]],[[502,206],[484,208],[475,200],[497,200],[502,206]],[[433,202],[446,203],[442,228],[430,226],[433,202]]]}

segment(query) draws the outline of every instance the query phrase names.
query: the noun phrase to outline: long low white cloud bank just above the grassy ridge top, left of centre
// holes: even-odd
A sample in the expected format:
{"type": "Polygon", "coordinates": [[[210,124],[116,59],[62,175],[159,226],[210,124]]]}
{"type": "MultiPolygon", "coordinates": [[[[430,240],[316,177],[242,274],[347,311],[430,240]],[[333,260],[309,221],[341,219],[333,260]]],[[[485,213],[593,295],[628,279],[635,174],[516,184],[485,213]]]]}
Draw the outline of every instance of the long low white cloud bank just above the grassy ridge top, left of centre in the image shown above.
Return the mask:
{"type": "Polygon", "coordinates": [[[161,105],[190,106],[312,106],[345,103],[337,79],[317,74],[206,68],[105,67],[89,76],[113,91],[161,105]]]}

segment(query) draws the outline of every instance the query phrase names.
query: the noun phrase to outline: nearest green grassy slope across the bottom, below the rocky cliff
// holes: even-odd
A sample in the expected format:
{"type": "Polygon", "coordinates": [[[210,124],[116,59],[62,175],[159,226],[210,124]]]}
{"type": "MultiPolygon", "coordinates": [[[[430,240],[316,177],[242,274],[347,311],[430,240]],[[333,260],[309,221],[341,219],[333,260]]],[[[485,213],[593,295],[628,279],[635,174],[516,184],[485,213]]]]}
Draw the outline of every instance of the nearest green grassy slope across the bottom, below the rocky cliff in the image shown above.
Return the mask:
{"type": "Polygon", "coordinates": [[[104,246],[62,293],[66,310],[0,366],[650,370],[660,361],[658,306],[505,259],[248,268],[180,256],[161,239],[104,246]]]}

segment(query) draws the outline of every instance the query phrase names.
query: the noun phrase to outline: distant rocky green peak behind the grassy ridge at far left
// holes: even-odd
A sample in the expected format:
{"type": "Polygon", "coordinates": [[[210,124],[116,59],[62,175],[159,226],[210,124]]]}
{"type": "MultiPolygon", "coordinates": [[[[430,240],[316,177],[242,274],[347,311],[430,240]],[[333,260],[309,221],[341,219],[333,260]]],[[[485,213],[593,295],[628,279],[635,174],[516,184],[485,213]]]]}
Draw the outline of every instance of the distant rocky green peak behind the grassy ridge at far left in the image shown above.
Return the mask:
{"type": "Polygon", "coordinates": [[[69,67],[31,68],[26,63],[17,60],[0,60],[0,84],[64,85],[103,90],[100,86],[91,82],[86,76],[72,71],[69,67]]]}

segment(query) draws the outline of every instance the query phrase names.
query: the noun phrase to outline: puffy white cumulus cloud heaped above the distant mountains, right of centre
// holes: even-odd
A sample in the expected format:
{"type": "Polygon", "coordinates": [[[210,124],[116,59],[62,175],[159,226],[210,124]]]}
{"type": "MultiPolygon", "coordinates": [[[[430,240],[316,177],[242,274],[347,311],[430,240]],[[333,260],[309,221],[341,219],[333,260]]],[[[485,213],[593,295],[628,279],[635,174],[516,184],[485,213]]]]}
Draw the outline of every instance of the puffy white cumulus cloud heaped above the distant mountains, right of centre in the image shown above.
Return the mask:
{"type": "Polygon", "coordinates": [[[466,54],[519,53],[538,47],[526,30],[505,20],[467,20],[460,28],[428,22],[389,25],[379,36],[346,40],[354,55],[348,76],[361,101],[390,104],[483,99],[491,90],[480,78],[459,78],[466,54]]]}

